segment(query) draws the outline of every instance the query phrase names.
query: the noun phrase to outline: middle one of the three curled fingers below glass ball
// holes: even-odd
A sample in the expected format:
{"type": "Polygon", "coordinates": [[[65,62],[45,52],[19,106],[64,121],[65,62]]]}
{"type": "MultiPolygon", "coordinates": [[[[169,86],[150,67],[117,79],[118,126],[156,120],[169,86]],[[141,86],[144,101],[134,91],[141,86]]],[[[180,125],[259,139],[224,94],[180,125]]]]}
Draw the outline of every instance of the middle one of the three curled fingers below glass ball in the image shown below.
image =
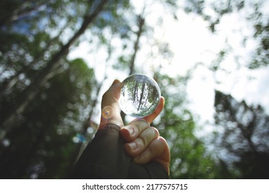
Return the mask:
{"type": "Polygon", "coordinates": [[[150,127],[144,130],[137,139],[130,143],[124,145],[126,153],[132,157],[141,154],[148,145],[157,137],[159,137],[159,132],[156,128],[150,127]]]}

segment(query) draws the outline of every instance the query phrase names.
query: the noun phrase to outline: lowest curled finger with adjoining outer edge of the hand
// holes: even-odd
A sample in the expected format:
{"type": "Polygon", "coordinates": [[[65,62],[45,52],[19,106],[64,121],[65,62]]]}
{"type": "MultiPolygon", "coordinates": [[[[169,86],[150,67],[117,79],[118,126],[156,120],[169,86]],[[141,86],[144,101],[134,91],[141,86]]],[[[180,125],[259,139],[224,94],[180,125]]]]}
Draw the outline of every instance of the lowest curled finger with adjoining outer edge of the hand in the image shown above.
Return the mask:
{"type": "Polygon", "coordinates": [[[169,174],[170,150],[166,139],[161,136],[153,140],[146,150],[134,158],[135,163],[139,164],[146,164],[152,160],[163,165],[169,174]]]}

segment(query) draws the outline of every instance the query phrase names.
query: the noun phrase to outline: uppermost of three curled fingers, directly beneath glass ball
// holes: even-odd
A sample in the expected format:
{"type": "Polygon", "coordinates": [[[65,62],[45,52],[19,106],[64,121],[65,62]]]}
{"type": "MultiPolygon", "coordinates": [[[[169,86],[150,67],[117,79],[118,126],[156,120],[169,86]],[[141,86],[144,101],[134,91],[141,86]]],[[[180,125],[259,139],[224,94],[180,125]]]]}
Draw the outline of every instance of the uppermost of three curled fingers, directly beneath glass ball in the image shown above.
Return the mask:
{"type": "Polygon", "coordinates": [[[120,130],[121,136],[125,141],[132,141],[150,127],[150,123],[144,119],[135,119],[129,125],[123,126],[120,130]]]}

